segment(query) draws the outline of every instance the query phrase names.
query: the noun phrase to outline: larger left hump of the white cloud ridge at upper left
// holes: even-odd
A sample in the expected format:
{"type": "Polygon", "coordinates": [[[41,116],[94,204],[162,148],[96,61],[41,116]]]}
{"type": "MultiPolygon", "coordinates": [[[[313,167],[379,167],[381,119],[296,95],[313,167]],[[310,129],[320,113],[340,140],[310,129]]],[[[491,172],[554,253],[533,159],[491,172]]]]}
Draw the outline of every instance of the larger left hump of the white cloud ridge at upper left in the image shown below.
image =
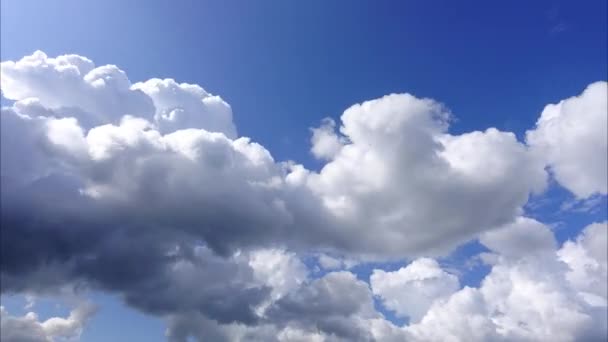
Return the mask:
{"type": "Polygon", "coordinates": [[[1,88],[10,100],[36,98],[44,107],[79,115],[86,127],[117,122],[123,115],[154,114],[148,96],[131,89],[127,75],[115,65],[95,68],[77,55],[49,58],[41,51],[17,62],[2,62],[1,88]]]}

